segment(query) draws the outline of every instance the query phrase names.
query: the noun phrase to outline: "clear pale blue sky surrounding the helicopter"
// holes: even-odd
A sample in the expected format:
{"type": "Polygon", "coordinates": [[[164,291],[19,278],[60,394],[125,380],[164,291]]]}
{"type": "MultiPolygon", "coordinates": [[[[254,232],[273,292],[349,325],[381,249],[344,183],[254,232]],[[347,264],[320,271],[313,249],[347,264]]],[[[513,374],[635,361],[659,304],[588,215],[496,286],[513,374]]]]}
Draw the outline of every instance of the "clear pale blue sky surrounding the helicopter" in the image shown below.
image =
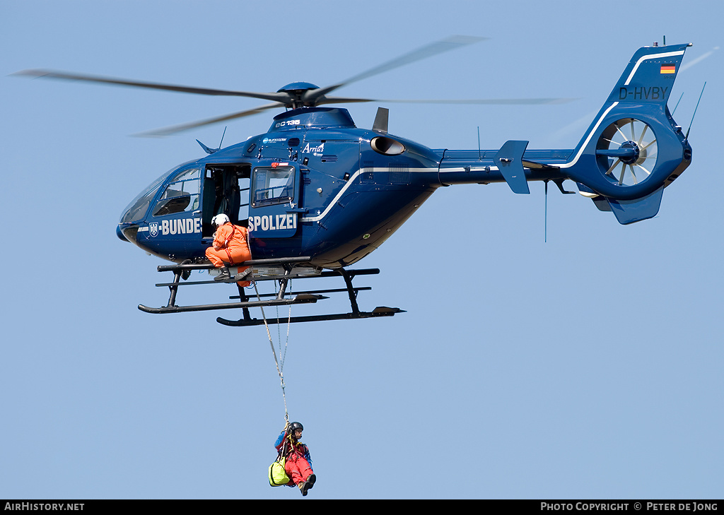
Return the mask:
{"type": "MultiPolygon", "coordinates": [[[[161,261],[114,234],[132,197],[224,127],[130,135],[264,101],[9,74],[276,91],[464,34],[490,39],[335,93],[577,98],[387,105],[392,134],[432,148],[476,148],[478,127],[483,148],[573,148],[633,52],[665,35],[694,43],[670,101],[683,93],[684,127],[707,81],[693,163],[631,226],[553,188],[547,242],[542,184],[436,192],[358,263],[382,270],[360,281],[374,288],[361,307],[406,313],[290,328],[287,404],[319,478],[308,498],[721,498],[720,2],[267,5],[0,0],[0,497],[300,498],[266,482],[284,404],[264,327],[140,312],[167,299],[161,261]]],[[[348,108],[371,127],[377,104],[348,108]]],[[[224,145],[271,114],[230,123],[224,145]]],[[[286,327],[272,335],[283,344],[286,327]]]]}

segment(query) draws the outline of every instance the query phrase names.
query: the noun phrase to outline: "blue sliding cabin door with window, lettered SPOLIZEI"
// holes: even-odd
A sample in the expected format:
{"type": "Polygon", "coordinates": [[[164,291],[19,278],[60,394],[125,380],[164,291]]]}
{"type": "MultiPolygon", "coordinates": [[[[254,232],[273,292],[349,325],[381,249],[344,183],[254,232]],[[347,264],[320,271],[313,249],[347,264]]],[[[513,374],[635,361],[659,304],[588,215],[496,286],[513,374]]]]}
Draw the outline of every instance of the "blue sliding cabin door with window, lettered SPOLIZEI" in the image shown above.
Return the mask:
{"type": "Polygon", "coordinates": [[[297,233],[301,201],[298,163],[261,160],[251,170],[249,231],[255,238],[290,238],[297,233]]]}

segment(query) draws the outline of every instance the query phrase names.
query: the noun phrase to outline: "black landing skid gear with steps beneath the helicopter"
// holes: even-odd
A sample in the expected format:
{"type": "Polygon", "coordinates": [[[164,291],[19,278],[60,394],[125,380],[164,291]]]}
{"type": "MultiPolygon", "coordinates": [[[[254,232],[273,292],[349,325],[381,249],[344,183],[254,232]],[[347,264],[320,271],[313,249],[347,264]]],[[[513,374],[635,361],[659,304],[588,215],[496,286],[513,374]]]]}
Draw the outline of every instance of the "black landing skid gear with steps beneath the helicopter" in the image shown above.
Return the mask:
{"type": "MultiPolygon", "coordinates": [[[[182,276],[193,270],[211,270],[214,268],[213,265],[160,265],[158,267],[159,272],[170,271],[174,273],[174,280],[170,283],[159,283],[156,286],[166,286],[169,289],[169,301],[167,305],[163,307],[148,307],[144,305],[138,305],[138,309],[147,313],[180,313],[190,311],[210,311],[210,310],[228,310],[228,309],[242,309],[243,318],[239,320],[227,320],[225,318],[216,318],[216,321],[223,325],[230,326],[247,326],[247,325],[262,325],[264,324],[264,318],[252,318],[250,308],[253,307],[272,307],[272,306],[286,306],[296,304],[313,304],[321,299],[328,299],[324,294],[338,293],[346,291],[350,300],[351,311],[347,313],[333,313],[329,315],[309,315],[309,316],[296,316],[290,318],[266,318],[268,324],[279,324],[279,323],[298,323],[298,322],[318,322],[325,320],[353,320],[355,318],[377,318],[377,317],[390,317],[396,313],[403,313],[404,310],[400,310],[397,307],[376,307],[372,311],[360,311],[357,305],[357,294],[359,291],[371,290],[369,286],[353,286],[352,279],[355,276],[372,275],[379,273],[377,268],[367,268],[360,270],[345,270],[344,268],[337,268],[332,271],[315,271],[313,268],[304,266],[308,263],[311,258],[281,258],[281,259],[265,259],[265,260],[250,260],[245,263],[241,263],[240,266],[251,266],[253,271],[267,271],[266,273],[253,273],[251,277],[252,281],[279,281],[279,291],[275,294],[259,294],[257,299],[253,299],[246,294],[243,287],[238,286],[239,294],[230,299],[239,299],[239,302],[224,302],[221,304],[206,304],[206,305],[191,305],[191,306],[179,306],[176,305],[176,295],[178,293],[179,286],[191,286],[198,284],[224,284],[224,283],[235,283],[234,278],[223,281],[186,281],[182,282],[182,276]],[[300,266],[301,265],[301,266],[300,266]],[[269,273],[268,271],[278,269],[283,273],[269,273]],[[321,278],[321,277],[338,277],[341,276],[345,281],[345,288],[337,289],[318,289],[308,291],[298,291],[294,295],[286,294],[287,284],[292,278],[321,278]],[[270,298],[271,297],[271,298],[270,298]]],[[[256,297],[256,296],[255,296],[256,297]]]]}

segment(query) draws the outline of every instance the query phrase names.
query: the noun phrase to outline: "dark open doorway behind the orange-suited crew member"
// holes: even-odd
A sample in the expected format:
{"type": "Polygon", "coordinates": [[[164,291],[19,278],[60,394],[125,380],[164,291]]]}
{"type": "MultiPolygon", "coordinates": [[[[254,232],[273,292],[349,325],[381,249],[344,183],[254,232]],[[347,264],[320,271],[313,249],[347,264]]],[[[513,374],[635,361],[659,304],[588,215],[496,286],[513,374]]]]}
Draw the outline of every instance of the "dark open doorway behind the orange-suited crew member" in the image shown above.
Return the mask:
{"type": "Polygon", "coordinates": [[[247,226],[251,164],[207,164],[203,178],[201,226],[204,238],[214,236],[211,218],[224,213],[232,224],[247,226]]]}

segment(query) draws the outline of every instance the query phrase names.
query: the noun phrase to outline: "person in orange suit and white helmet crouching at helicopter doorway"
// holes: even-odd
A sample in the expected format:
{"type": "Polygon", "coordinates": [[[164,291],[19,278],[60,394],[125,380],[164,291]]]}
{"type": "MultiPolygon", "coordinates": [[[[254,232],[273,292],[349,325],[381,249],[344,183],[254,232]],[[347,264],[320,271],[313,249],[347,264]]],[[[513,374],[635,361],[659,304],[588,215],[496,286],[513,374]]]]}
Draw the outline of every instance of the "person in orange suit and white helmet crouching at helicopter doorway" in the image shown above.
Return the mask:
{"type": "MultiPolygon", "coordinates": [[[[211,218],[211,224],[216,227],[214,242],[206,249],[206,258],[216,268],[221,268],[221,273],[214,278],[214,281],[230,279],[229,266],[235,263],[251,260],[249,250],[249,231],[246,227],[237,226],[231,223],[229,217],[221,213],[211,218]]],[[[248,266],[240,267],[237,278],[243,278],[251,273],[248,266]]],[[[249,286],[249,281],[237,281],[239,286],[249,286]]]]}

